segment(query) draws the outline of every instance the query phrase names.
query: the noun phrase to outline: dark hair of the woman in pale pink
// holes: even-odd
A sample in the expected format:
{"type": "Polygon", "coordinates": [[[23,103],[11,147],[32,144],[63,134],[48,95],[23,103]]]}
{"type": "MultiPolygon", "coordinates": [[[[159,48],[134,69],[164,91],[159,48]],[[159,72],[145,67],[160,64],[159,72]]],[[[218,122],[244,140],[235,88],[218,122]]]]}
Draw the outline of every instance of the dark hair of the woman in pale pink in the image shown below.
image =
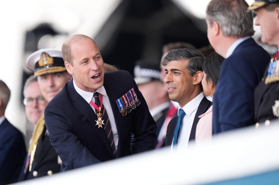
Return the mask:
{"type": "Polygon", "coordinates": [[[216,52],[213,52],[206,57],[202,65],[202,69],[206,74],[206,82],[211,79],[215,85],[217,84],[223,61],[224,58],[216,52]]]}

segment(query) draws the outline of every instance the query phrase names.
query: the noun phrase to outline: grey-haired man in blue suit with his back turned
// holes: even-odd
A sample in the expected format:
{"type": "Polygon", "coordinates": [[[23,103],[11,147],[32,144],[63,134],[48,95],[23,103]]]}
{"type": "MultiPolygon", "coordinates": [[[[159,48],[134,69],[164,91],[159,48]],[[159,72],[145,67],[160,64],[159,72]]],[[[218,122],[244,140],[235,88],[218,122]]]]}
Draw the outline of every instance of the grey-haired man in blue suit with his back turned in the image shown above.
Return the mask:
{"type": "Polygon", "coordinates": [[[213,134],[254,124],[254,90],[270,56],[251,38],[247,7],[245,1],[212,0],[206,9],[208,40],[225,58],[213,98],[213,134]]]}

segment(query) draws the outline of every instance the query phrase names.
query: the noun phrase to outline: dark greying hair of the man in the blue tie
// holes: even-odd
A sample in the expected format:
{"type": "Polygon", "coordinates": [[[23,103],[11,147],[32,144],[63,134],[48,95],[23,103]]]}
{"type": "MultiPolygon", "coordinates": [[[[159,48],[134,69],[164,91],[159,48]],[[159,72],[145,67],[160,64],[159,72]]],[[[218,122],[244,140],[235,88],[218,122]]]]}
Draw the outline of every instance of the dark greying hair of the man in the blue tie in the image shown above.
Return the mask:
{"type": "MultiPolygon", "coordinates": [[[[186,67],[189,70],[189,74],[194,76],[198,71],[202,71],[202,64],[205,60],[205,56],[190,48],[173,49],[164,57],[162,65],[167,65],[168,61],[181,60],[188,60],[188,65],[186,67]]],[[[203,91],[201,83],[200,87],[201,91],[203,91]]]]}

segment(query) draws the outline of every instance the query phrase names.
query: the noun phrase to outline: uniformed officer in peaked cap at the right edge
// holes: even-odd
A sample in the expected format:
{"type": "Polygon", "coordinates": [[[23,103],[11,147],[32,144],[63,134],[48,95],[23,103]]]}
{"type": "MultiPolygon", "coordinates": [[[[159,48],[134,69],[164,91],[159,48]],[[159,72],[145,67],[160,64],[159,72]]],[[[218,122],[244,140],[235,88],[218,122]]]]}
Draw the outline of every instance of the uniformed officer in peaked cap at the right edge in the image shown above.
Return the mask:
{"type": "MultiPolygon", "coordinates": [[[[261,41],[279,47],[279,0],[256,0],[247,11],[255,11],[261,26],[261,41]]],[[[254,93],[256,128],[279,117],[279,51],[272,57],[254,93]]]]}

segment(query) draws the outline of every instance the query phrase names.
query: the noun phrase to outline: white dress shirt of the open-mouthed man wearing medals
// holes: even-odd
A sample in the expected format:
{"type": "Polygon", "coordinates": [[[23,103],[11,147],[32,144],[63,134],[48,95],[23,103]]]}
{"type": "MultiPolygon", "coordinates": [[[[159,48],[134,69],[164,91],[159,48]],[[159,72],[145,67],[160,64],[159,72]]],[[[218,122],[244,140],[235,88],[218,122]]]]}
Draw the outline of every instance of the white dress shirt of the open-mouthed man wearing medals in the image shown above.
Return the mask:
{"type": "MultiPolygon", "coordinates": [[[[85,101],[91,106],[91,108],[96,113],[96,109],[90,104],[91,100],[92,100],[92,102],[95,103],[95,98],[93,97],[94,92],[87,92],[87,91],[81,90],[75,84],[74,80],[73,80],[73,85],[74,85],[75,90],[78,92],[78,94],[81,95],[83,99],[85,99],[85,101]]],[[[112,108],[111,108],[111,105],[110,105],[110,102],[109,102],[109,99],[108,99],[107,92],[106,92],[104,86],[101,86],[99,89],[96,90],[96,92],[103,95],[103,104],[104,104],[104,107],[106,108],[106,111],[108,113],[109,122],[110,122],[110,125],[111,125],[111,128],[112,128],[112,131],[113,131],[115,149],[117,151],[117,145],[118,145],[117,128],[116,128],[114,115],[113,115],[113,111],[112,111],[112,108]]]]}

